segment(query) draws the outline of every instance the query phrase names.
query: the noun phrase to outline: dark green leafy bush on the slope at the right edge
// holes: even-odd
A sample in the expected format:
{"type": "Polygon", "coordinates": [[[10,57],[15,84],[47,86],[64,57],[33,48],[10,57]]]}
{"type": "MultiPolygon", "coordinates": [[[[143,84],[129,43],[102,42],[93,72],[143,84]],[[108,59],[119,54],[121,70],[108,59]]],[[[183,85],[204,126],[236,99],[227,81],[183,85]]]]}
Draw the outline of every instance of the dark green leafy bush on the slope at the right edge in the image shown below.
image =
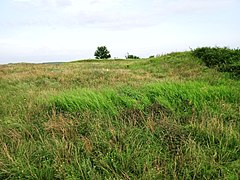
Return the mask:
{"type": "Polygon", "coordinates": [[[240,77],[240,49],[201,47],[192,50],[192,54],[210,68],[240,77]]]}

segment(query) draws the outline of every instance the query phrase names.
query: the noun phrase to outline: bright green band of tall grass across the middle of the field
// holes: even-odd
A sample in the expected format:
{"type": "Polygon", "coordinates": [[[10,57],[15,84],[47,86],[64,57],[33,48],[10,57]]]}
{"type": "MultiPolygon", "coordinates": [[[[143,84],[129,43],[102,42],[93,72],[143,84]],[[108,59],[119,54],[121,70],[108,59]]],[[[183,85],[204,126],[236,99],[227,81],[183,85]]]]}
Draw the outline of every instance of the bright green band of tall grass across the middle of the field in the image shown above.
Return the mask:
{"type": "Polygon", "coordinates": [[[89,111],[114,116],[130,109],[146,112],[150,106],[156,105],[177,118],[185,118],[193,114],[202,115],[204,110],[221,115],[226,106],[231,106],[231,111],[225,111],[222,115],[231,119],[238,116],[239,103],[238,88],[187,82],[148,84],[138,89],[123,86],[115,91],[75,89],[53,96],[50,109],[54,107],[60,112],[89,111]]]}

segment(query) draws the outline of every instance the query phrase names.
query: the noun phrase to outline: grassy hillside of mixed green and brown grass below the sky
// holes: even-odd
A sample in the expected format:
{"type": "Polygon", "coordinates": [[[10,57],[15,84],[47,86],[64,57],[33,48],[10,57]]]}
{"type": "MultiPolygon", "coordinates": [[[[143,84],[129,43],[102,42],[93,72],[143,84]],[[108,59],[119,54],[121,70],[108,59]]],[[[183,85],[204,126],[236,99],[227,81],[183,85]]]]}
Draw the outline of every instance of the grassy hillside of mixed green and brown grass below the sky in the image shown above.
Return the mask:
{"type": "Polygon", "coordinates": [[[191,52],[0,66],[0,179],[239,179],[240,81],[191,52]]]}

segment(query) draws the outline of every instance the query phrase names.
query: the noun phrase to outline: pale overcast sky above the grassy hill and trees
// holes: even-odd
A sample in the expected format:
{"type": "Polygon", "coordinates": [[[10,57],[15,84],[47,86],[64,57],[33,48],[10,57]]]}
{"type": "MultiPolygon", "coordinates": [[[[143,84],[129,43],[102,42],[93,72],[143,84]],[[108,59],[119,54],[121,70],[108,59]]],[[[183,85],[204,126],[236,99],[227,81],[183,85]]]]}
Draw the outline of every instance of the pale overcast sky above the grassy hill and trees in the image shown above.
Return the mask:
{"type": "Polygon", "coordinates": [[[0,64],[240,44],[240,0],[1,0],[0,64]]]}

